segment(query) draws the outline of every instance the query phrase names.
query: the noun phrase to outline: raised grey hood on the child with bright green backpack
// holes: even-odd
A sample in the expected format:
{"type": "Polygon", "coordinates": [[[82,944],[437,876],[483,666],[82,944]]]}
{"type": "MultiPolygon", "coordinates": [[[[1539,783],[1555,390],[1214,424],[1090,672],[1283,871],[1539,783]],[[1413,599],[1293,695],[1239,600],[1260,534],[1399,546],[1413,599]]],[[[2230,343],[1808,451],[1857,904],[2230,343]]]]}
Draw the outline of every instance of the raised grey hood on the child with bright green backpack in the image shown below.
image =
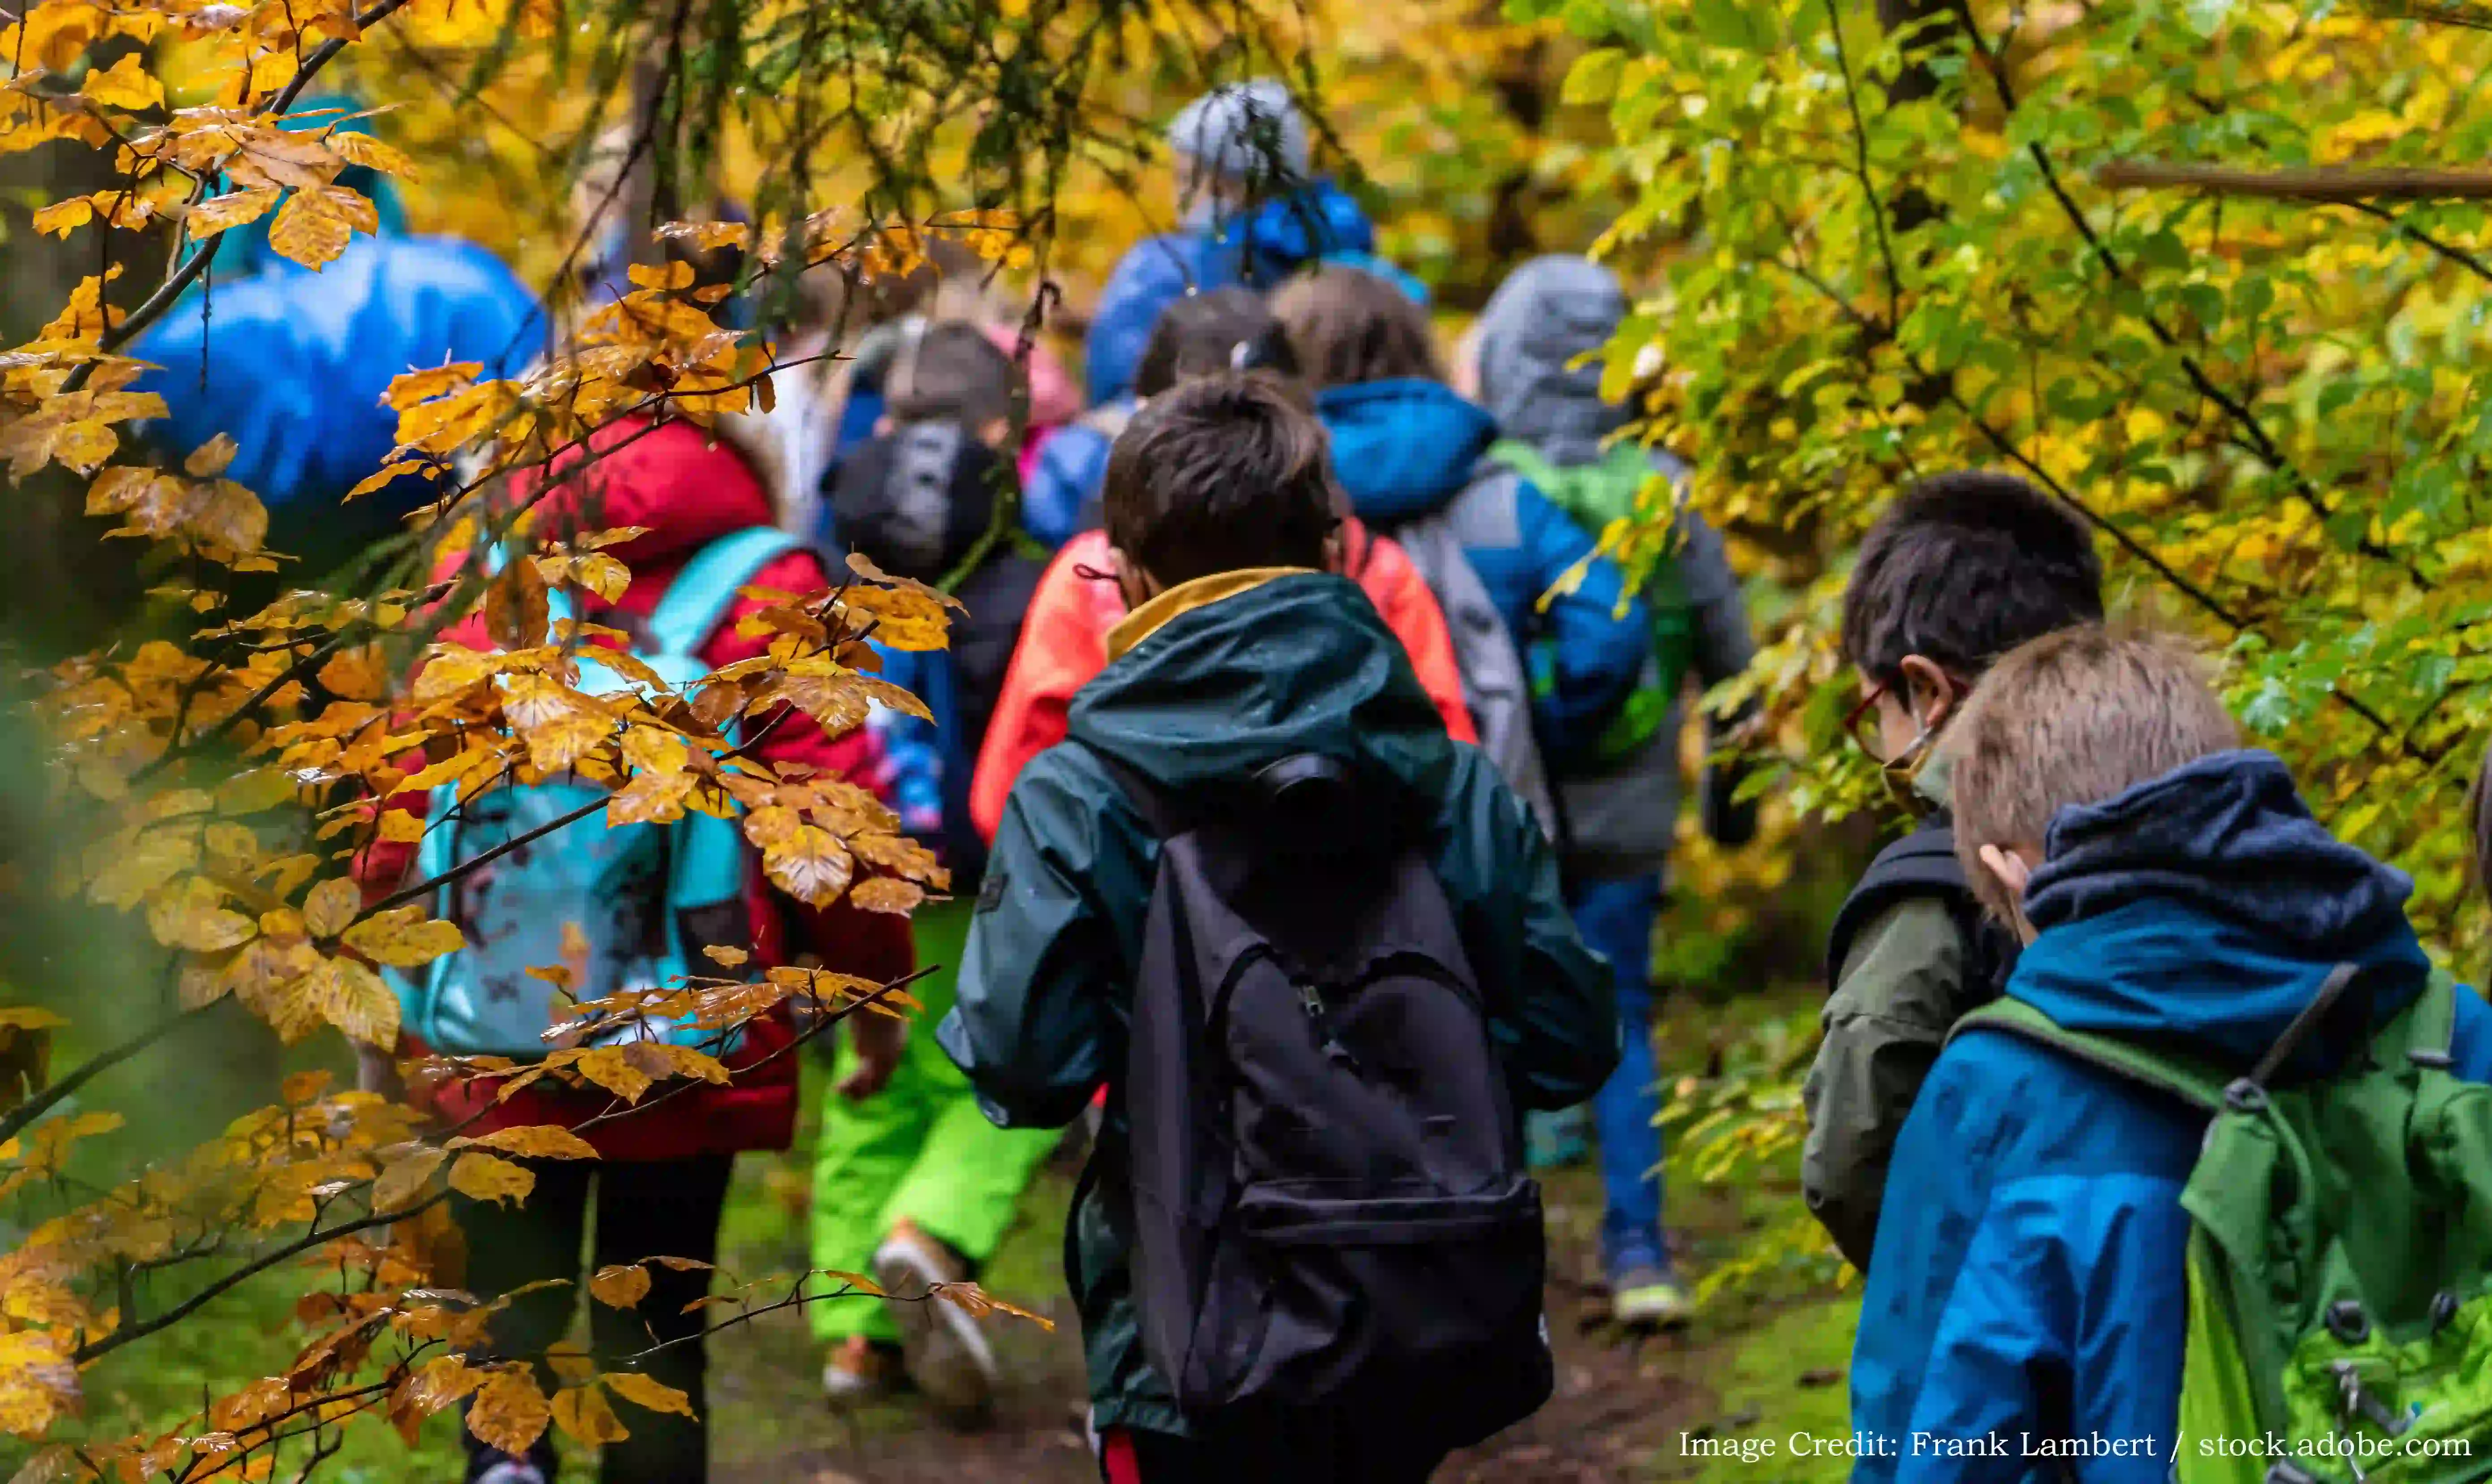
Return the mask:
{"type": "Polygon", "coordinates": [[[1600,398],[1600,364],[1577,366],[1627,319],[1617,274],[1580,256],[1538,256],[1513,271],[1480,311],[1480,401],[1553,463],[1592,463],[1627,408],[1600,398]]]}

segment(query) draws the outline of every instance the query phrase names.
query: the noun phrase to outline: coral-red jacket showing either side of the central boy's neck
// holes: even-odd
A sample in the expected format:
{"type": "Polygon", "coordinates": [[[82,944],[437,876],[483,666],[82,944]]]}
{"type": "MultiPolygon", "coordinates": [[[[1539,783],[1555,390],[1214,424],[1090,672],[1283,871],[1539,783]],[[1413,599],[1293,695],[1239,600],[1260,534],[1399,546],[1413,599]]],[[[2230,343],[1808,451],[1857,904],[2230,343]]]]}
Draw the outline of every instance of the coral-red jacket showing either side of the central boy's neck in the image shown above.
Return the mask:
{"type": "MultiPolygon", "coordinates": [[[[1478,742],[1470,710],[1463,705],[1463,672],[1453,665],[1445,613],[1410,565],[1410,555],[1351,520],[1343,528],[1341,565],[1403,642],[1420,690],[1445,722],[1445,735],[1455,742],[1478,742]]],[[[1074,695],[1106,670],[1106,637],[1126,618],[1124,598],[1116,583],[1084,575],[1106,570],[1106,533],[1084,530],[1047,563],[1029,600],[1022,640],[1012,652],[1012,670],[1004,675],[987,737],[977,747],[977,777],[969,784],[969,819],[989,842],[1004,822],[1004,799],[1022,767],[1064,740],[1074,695]]]]}

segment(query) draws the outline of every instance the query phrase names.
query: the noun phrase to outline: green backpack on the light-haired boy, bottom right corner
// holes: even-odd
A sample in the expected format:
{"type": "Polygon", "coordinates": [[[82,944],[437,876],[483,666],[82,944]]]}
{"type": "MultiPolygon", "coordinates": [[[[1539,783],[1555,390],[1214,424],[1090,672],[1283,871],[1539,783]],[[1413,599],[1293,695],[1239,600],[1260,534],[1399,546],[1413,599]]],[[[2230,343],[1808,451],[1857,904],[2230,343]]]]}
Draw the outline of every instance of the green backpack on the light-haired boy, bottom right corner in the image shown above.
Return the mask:
{"type": "Polygon", "coordinates": [[[2180,1193],[2178,1484],[2492,1479],[2492,1088],[2450,1073],[2472,991],[2432,974],[2342,1071],[2270,1086],[2357,976],[2330,974],[2245,1078],[2014,998],[1956,1021],[2210,1115],[2180,1193]]]}

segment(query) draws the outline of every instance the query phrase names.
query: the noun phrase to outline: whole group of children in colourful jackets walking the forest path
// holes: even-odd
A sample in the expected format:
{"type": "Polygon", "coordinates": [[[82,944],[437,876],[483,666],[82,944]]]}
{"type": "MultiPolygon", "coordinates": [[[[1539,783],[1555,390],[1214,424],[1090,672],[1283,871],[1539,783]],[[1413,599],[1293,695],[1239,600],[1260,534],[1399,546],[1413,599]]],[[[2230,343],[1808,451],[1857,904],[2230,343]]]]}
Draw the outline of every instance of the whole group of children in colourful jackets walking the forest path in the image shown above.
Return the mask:
{"type": "MultiPolygon", "coordinates": [[[[807,1307],[832,1399],[915,1384],[984,1404],[982,1327],[912,1300],[977,1275],[1094,1111],[1067,1280],[1104,1477],[1425,1479],[1548,1394],[1528,1113],[1592,1108],[1617,1320],[1690,1312],[1662,1235],[1650,939],[1685,692],[1744,670],[1752,640],[1695,515],[1640,588],[1597,553],[1682,473],[1622,441],[1630,413],[1600,393],[1590,361],[1627,311],[1605,269],[1528,264],[1448,366],[1356,204],[1306,182],[1283,90],[1224,90],[1174,144],[1186,229],[1116,269],[1091,408],[1052,408],[1047,436],[1027,436],[1014,336],[934,314],[880,336],[845,431],[797,418],[817,466],[790,463],[797,423],[730,418],[720,438],[623,423],[543,476],[543,518],[643,528],[611,548],[633,570],[616,613],[583,618],[675,635],[698,665],[758,647],[745,588],[817,590],[837,548],[962,598],[947,650],[885,655],[932,722],[877,712],[830,740],[797,717],[760,747],[870,784],[939,849],[954,899],[915,939],[785,899],[750,859],[743,889],[688,899],[583,822],[444,899],[471,969],[401,984],[406,1023],[414,1051],[496,1051],[476,1028],[518,981],[491,966],[521,964],[581,889],[551,859],[613,857],[591,881],[613,899],[586,934],[601,964],[698,944],[870,979],[957,964],[917,986],[915,1031],[855,1016],[837,1038],[812,1265],[892,1297],[807,1307]]],[[[2410,886],[2238,747],[2188,652],[2103,625],[2091,533],[2016,478],[1896,498],[1852,570],[1844,655],[1852,732],[1919,817],[1837,916],[1807,1081],[1807,1200],[1869,1275],[1854,1424],[2171,1437],[2195,1305],[2180,1195],[2208,1113],[2101,1046],[2255,1066],[2263,1088],[2283,1041],[2325,1078],[2425,996],[2410,886]],[[2313,1051],[2345,964],[2362,996],[2313,1051]]],[[[1707,722],[1719,742],[1734,717],[1707,722]]],[[[1747,822],[1710,782],[1705,827],[1737,842],[1747,822]]],[[[439,862],[386,844],[359,862],[374,896],[409,869],[439,862]]],[[[2482,1013],[2457,996],[2432,1066],[2492,1078],[2482,1013]]],[[[792,1033],[770,1016],[728,1048],[735,1086],[598,1120],[593,1175],[543,1163],[518,1210],[459,1200],[468,1285],[518,1295],[503,1350],[568,1322],[568,1290],[541,1280],[715,1252],[733,1155],[792,1140],[792,1033]]],[[[431,1096],[471,1133],[601,1108],[546,1083],[491,1093],[431,1096]]],[[[700,1275],[653,1280],[648,1320],[598,1307],[598,1340],[655,1337],[650,1372],[698,1409],[700,1320],[680,1310],[700,1275]]],[[[551,1444],[473,1447],[468,1484],[556,1469],[551,1444]]],[[[650,1417],[603,1477],[698,1479],[703,1452],[698,1419],[650,1417]]],[[[1859,1464],[2028,1472],[1909,1447],[1859,1464]]]]}

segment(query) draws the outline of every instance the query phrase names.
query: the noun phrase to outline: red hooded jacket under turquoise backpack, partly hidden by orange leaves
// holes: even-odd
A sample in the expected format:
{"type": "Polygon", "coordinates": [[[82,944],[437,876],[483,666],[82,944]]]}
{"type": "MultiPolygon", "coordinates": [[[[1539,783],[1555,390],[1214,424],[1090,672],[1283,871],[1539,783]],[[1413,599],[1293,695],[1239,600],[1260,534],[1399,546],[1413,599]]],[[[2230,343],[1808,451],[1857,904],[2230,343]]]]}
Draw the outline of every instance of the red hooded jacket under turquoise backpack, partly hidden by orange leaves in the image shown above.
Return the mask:
{"type": "MultiPolygon", "coordinates": [[[[713,441],[693,423],[663,423],[650,431],[645,418],[623,418],[591,436],[591,456],[593,463],[586,473],[538,500],[543,528],[591,520],[593,525],[645,525],[648,530],[606,548],[608,555],[630,568],[633,580],[613,610],[591,605],[583,608],[583,620],[598,622],[603,618],[611,622],[608,613],[648,618],[658,610],[675,573],[703,545],[735,530],[770,525],[770,495],[753,466],[733,446],[713,441]]],[[[558,461],[556,478],[578,468],[581,456],[573,453],[558,461]]],[[[521,498],[533,493],[533,486],[531,471],[518,481],[521,498]]],[[[817,593],[830,585],[830,575],[815,553],[790,550],[763,565],[750,585],[817,593]]],[[[735,632],[735,625],[760,608],[765,608],[763,600],[740,595],[710,642],[700,647],[700,660],[715,670],[763,655],[773,635],[735,632]]],[[[493,647],[481,615],[454,622],[444,637],[478,650],[493,647]]],[[[840,774],[862,784],[877,782],[875,737],[862,727],[845,737],[827,737],[810,717],[787,717],[770,727],[755,754],[773,764],[800,762],[820,774],[840,774]]],[[[399,794],[389,807],[421,819],[426,797],[399,794]]],[[[386,894],[399,886],[411,864],[411,844],[374,844],[356,857],[354,871],[366,894],[386,894]]],[[[763,879],[758,857],[748,871],[745,899],[753,911],[753,956],[765,966],[815,954],[830,969],[867,979],[897,979],[915,969],[907,919],[857,911],[845,901],[817,909],[782,896],[763,879]]],[[[601,1123],[586,1138],[608,1160],[675,1160],[703,1153],[787,1148],[795,1138],[797,1056],[785,1053],[792,1038],[785,1016],[773,1013],[753,1023],[745,1046],[728,1058],[728,1066],[740,1073],[733,1086],[703,1086],[670,1096],[650,1106],[645,1115],[601,1123]],[[748,1066],[753,1071],[743,1073],[748,1066]]],[[[603,1093],[538,1091],[541,1086],[523,1088],[496,1106],[493,1083],[454,1081],[434,1093],[434,1103],[454,1123],[478,1115],[468,1133],[523,1123],[573,1125],[611,1103],[603,1093]]]]}

